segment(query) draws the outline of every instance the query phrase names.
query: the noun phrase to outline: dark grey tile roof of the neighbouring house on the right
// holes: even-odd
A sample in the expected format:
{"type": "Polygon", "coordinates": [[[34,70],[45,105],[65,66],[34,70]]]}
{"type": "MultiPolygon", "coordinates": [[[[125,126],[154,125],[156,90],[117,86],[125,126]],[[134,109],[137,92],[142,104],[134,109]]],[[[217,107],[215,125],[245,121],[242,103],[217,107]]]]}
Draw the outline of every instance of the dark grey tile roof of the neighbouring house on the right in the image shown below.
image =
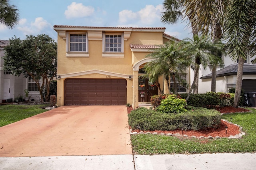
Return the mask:
{"type": "MultiPolygon", "coordinates": [[[[216,72],[216,77],[236,75],[238,63],[226,66],[216,72]]],[[[243,75],[256,75],[256,64],[244,63],[243,75]]],[[[202,76],[200,79],[212,78],[212,73],[202,76]]]]}

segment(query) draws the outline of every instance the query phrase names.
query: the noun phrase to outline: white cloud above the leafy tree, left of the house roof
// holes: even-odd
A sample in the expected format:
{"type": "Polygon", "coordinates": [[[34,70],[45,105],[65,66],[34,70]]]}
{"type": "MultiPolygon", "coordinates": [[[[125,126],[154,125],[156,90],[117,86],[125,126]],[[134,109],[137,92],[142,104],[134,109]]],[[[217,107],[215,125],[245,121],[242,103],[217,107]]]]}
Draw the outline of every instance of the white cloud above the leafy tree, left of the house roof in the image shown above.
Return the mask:
{"type": "Polygon", "coordinates": [[[21,23],[22,24],[20,24],[18,30],[22,31],[24,35],[40,34],[42,31],[48,31],[48,29],[52,29],[51,24],[44,20],[42,17],[36,18],[34,22],[30,23],[30,25],[24,25],[26,23],[26,19],[22,19],[21,23]]]}

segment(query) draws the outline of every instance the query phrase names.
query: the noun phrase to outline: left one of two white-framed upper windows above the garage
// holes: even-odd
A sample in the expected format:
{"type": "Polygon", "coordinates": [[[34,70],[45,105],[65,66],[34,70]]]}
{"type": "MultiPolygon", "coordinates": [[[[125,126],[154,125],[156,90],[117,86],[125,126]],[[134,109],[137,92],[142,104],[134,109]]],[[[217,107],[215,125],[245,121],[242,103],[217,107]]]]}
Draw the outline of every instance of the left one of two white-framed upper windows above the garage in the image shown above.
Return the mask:
{"type": "Polygon", "coordinates": [[[85,33],[70,33],[69,34],[69,51],[72,52],[87,52],[87,42],[85,33]]]}

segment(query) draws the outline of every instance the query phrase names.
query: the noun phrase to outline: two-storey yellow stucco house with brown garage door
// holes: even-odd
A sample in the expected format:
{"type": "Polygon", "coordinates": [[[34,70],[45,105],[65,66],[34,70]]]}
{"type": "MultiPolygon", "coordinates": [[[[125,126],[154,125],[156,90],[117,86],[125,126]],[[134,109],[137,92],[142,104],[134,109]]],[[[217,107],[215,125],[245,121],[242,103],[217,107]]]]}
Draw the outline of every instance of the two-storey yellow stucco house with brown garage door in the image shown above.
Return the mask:
{"type": "MultiPolygon", "coordinates": [[[[152,60],[145,56],[156,45],[178,41],[165,34],[164,27],[54,25],[54,30],[58,32],[58,106],[132,104],[136,108],[140,102],[150,102],[158,88],[140,78],[144,64],[152,60]]],[[[164,78],[159,82],[164,89],[164,78]]]]}

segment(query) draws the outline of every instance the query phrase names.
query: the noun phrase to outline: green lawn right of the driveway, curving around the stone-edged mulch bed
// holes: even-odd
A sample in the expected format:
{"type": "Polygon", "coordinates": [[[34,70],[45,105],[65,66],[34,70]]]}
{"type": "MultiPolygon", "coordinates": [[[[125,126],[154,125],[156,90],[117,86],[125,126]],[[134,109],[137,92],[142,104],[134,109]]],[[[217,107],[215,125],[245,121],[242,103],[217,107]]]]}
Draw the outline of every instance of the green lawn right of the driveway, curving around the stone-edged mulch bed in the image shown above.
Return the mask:
{"type": "Polygon", "coordinates": [[[192,154],[256,152],[256,109],[248,113],[222,115],[222,119],[243,127],[241,139],[178,139],[165,135],[131,135],[135,154],[192,154]]]}

